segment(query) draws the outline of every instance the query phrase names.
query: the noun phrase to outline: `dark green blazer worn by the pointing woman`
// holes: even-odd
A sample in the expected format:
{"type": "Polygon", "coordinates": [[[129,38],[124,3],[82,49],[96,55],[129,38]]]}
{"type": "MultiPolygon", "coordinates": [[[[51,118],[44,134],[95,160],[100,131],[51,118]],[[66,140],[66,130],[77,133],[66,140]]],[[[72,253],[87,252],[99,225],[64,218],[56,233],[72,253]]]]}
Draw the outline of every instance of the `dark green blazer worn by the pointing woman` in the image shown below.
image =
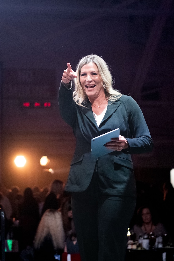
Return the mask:
{"type": "Polygon", "coordinates": [[[99,186],[104,194],[135,197],[133,163],[130,154],[150,152],[153,141],[138,104],[123,95],[114,103],[108,102],[107,111],[99,127],[93,116],[91,103],[77,105],[72,88],[62,83],[58,93],[61,117],[73,128],[76,148],[65,191],[82,192],[89,186],[96,159],[91,158],[91,139],[119,128],[120,135],[129,143],[129,150],[114,151],[98,158],[99,186]]]}

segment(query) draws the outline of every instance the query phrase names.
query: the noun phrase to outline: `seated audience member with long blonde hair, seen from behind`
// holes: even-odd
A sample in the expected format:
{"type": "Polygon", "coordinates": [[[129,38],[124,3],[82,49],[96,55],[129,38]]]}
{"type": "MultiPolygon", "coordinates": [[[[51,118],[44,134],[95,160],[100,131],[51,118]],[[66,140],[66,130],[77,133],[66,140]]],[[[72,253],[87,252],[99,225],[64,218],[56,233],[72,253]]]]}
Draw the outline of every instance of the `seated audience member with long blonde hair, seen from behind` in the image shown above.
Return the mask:
{"type": "Polygon", "coordinates": [[[46,210],[39,222],[34,239],[34,260],[55,260],[55,255],[61,256],[64,242],[65,234],[61,212],[55,209],[46,210]]]}

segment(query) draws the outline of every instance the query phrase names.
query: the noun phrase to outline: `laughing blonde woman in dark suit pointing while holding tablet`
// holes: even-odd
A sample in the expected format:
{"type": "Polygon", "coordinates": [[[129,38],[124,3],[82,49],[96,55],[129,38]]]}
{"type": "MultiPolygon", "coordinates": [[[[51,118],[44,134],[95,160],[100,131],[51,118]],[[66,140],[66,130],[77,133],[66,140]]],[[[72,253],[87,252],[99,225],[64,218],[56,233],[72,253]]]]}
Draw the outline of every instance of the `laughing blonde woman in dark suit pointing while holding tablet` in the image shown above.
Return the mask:
{"type": "Polygon", "coordinates": [[[70,63],[67,66],[58,102],[63,120],[76,137],[65,191],[72,192],[81,259],[122,261],[136,199],[130,154],[152,151],[153,141],[141,109],[131,97],[113,89],[101,57],[83,57],[76,72],[70,63]],[[91,139],[116,128],[119,138],[105,144],[111,153],[92,159],[91,139]]]}

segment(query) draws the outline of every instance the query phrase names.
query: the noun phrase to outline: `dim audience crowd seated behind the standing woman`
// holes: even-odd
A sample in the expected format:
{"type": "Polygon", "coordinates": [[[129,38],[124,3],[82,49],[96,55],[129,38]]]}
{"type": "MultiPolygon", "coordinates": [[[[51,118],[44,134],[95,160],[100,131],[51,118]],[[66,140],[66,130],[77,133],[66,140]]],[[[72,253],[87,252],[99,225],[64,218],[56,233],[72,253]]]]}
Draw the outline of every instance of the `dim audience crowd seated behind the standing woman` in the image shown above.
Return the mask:
{"type": "MultiPolygon", "coordinates": [[[[130,222],[130,232],[135,234],[135,240],[145,233],[153,233],[155,236],[167,235],[168,243],[173,245],[174,189],[171,183],[164,183],[163,191],[138,181],[136,186],[137,202],[130,222]]],[[[27,187],[23,193],[18,186],[7,189],[0,184],[5,239],[18,242],[16,260],[63,261],[68,255],[72,256],[71,260],[80,260],[71,196],[63,188],[63,182],[57,179],[48,187],[27,187]]]]}

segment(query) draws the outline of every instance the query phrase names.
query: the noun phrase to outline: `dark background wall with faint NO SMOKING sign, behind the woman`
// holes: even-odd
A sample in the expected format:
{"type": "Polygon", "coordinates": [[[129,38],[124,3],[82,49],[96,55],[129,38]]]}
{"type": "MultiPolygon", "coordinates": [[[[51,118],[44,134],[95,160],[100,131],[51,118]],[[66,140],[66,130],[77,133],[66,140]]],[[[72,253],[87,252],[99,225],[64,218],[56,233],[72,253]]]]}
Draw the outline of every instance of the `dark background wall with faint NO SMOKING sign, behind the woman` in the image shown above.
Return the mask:
{"type": "Polygon", "coordinates": [[[67,62],[75,70],[94,53],[110,65],[115,88],[140,105],[154,140],[152,153],[133,155],[136,179],[162,186],[174,167],[173,1],[1,0],[0,16],[1,182],[66,182],[75,139],[57,91],[67,62]],[[27,158],[23,169],[14,165],[17,154],[27,158]],[[53,174],[40,166],[43,155],[53,174]]]}

